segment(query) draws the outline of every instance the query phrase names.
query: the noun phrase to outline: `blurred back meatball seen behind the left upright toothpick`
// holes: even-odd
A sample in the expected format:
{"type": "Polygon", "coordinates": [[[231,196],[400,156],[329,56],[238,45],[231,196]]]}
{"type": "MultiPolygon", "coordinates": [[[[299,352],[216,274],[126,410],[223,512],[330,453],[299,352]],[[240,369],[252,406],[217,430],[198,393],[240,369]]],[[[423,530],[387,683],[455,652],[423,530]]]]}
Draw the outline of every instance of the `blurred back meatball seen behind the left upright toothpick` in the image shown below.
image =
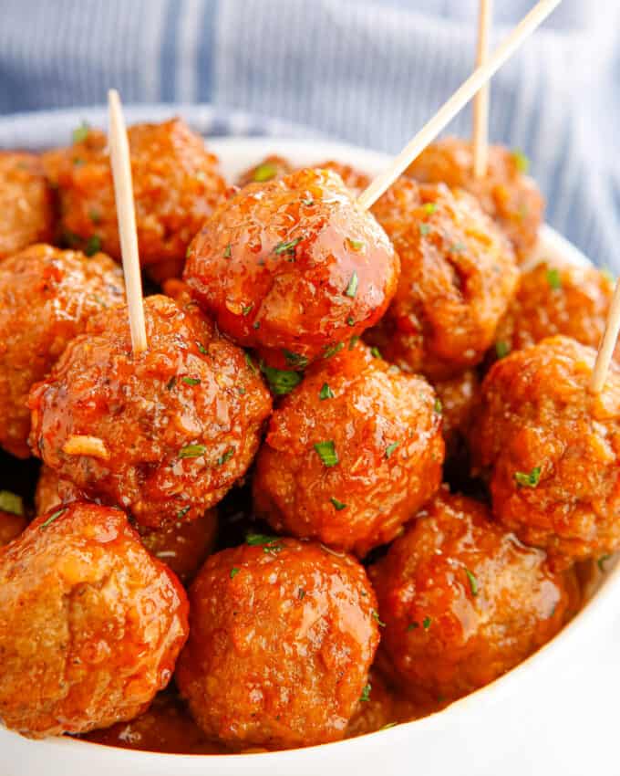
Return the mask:
{"type": "MultiPolygon", "coordinates": [[[[129,127],[140,261],[181,261],[191,238],[226,191],[217,159],[181,119],[129,127]]],[[[106,135],[81,127],[67,149],[44,157],[57,186],[70,246],[100,246],[120,259],[106,135]]]]}

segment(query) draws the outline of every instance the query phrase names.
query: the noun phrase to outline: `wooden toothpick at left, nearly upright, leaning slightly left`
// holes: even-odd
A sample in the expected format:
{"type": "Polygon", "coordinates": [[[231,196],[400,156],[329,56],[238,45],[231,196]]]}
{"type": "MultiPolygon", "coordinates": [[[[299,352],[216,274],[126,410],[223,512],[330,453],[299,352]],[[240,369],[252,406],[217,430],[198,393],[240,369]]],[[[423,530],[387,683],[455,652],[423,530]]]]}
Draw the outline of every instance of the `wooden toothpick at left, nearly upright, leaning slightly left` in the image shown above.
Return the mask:
{"type": "Polygon", "coordinates": [[[127,291],[131,347],[134,353],[140,353],[146,351],[148,342],[142,302],[136,209],[133,202],[133,184],[131,183],[129,141],[120,106],[119,92],[116,89],[110,89],[108,92],[108,110],[109,155],[112,161],[114,196],[119,221],[120,253],[123,259],[123,273],[127,291]]]}

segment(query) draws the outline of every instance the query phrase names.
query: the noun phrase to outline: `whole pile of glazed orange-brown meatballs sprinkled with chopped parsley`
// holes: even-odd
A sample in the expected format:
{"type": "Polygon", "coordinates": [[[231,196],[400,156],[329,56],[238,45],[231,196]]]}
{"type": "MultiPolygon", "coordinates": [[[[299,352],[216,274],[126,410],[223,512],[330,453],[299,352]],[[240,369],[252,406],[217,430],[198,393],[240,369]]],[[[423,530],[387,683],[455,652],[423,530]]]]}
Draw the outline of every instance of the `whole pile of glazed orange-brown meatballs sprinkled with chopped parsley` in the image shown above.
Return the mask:
{"type": "Polygon", "coordinates": [[[2,723],[304,747],[549,641],[620,550],[620,371],[588,392],[612,280],[532,263],[522,154],[436,142],[367,212],[343,164],[129,144],[140,353],[105,134],[0,153],[2,723]]]}

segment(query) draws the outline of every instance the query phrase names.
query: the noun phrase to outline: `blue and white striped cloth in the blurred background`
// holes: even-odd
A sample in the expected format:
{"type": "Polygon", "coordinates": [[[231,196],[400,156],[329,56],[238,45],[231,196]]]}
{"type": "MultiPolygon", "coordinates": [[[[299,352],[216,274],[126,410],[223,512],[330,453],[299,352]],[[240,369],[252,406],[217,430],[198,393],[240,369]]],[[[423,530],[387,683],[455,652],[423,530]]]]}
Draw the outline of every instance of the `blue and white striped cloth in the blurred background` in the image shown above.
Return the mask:
{"type": "MultiPolygon", "coordinates": [[[[495,42],[532,4],[495,4],[495,42]]],[[[2,0],[0,113],[100,105],[116,86],[126,104],[209,103],[219,133],[283,131],[281,120],[395,152],[469,74],[477,5],[2,0]],[[233,110],[243,121],[228,121],[233,110]]],[[[494,79],[490,127],[532,158],[550,223],[615,269],[619,5],[564,0],[494,79]]],[[[470,110],[449,130],[467,135],[470,110]]]]}

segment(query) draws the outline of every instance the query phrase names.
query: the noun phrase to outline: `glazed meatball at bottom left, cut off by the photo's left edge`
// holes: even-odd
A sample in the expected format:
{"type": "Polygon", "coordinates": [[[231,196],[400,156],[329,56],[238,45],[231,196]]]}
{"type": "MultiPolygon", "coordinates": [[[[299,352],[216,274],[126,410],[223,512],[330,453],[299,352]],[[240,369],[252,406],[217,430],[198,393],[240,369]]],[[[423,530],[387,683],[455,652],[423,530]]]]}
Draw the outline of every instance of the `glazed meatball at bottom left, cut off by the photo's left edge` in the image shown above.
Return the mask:
{"type": "Polygon", "coordinates": [[[0,551],[0,719],[43,737],[136,717],[170,681],[187,616],[119,509],[37,518],[0,551]]]}

